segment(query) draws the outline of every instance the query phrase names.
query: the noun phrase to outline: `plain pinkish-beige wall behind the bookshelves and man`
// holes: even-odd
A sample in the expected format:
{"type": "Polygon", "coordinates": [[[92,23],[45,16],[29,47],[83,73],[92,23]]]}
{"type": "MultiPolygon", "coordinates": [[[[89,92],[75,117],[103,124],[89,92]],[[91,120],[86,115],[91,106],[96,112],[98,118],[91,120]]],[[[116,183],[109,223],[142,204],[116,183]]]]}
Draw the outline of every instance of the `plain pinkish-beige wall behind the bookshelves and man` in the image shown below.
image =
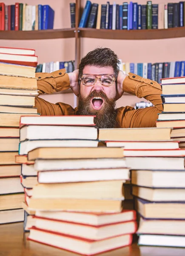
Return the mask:
{"type": "MultiPolygon", "coordinates": [[[[55,10],[54,29],[70,27],[70,0],[23,0],[22,3],[30,5],[49,4],[55,10]]],[[[85,6],[86,0],[82,0],[82,6],[85,6]]],[[[93,1],[92,1],[93,2],[93,1]]],[[[95,3],[106,3],[106,0],[94,1],[95,3]]],[[[165,2],[165,1],[164,1],[165,2]]],[[[163,1],[153,0],[152,3],[164,3],[163,1]]],[[[179,0],[173,0],[179,2],[179,0]]],[[[6,4],[14,4],[15,0],[6,0],[6,4]]],[[[111,0],[112,4],[113,1],[111,0]]],[[[116,3],[122,4],[122,0],[116,3]]],[[[146,0],[139,0],[140,4],[145,4],[146,0]]],[[[167,1],[165,2],[167,3],[167,1]]],[[[147,31],[146,31],[147,32],[147,31]]],[[[165,62],[182,61],[184,55],[185,38],[172,38],[162,40],[105,40],[105,39],[81,39],[81,57],[95,47],[109,47],[114,50],[123,62],[165,62]]],[[[74,59],[74,38],[68,39],[49,39],[49,40],[0,40],[0,46],[22,47],[36,49],[38,61],[69,61],[74,59]]],[[[65,102],[74,106],[72,94],[53,94],[42,96],[50,102],[65,102]]],[[[118,100],[117,106],[131,105],[139,102],[135,96],[122,96],[118,100]]]]}

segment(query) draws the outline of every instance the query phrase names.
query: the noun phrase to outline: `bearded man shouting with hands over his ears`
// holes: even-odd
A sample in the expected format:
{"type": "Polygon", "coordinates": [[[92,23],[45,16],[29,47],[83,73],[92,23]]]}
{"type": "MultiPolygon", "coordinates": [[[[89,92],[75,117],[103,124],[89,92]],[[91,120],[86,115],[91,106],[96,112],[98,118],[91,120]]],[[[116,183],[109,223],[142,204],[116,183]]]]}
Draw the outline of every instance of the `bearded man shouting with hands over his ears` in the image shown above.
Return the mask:
{"type": "MultiPolygon", "coordinates": [[[[68,104],[52,104],[36,98],[35,106],[41,115],[95,115],[99,128],[155,127],[157,114],[162,111],[160,85],[118,68],[117,55],[108,48],[97,48],[81,59],[79,70],[65,73],[37,73],[39,93],[54,93],[71,88],[79,97],[77,108],[68,104]],[[116,100],[130,93],[144,97],[154,107],[135,110],[126,106],[116,109],[116,100]]],[[[124,102],[123,102],[124,104],[124,102]]]]}

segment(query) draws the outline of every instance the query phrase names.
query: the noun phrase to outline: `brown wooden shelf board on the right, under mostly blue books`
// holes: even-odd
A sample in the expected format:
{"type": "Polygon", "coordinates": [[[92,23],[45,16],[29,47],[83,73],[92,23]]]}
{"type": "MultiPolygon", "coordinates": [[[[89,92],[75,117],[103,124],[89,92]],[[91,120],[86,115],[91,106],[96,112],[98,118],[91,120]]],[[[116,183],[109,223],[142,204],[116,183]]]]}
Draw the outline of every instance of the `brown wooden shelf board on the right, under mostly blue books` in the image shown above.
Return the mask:
{"type": "Polygon", "coordinates": [[[79,28],[82,38],[151,40],[185,37],[185,27],[171,29],[111,30],[79,28]]]}

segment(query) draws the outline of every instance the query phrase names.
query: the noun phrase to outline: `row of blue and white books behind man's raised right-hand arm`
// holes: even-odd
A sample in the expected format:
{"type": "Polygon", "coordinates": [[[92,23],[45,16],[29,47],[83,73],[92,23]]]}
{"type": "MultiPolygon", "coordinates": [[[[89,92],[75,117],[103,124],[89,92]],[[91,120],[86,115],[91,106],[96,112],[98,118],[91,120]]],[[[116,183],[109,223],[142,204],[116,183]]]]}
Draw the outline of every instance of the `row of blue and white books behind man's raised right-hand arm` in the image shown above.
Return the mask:
{"type": "Polygon", "coordinates": [[[120,59],[120,70],[125,74],[134,73],[157,81],[160,84],[160,79],[168,77],[185,76],[185,61],[171,61],[161,63],[124,63],[120,59]]]}

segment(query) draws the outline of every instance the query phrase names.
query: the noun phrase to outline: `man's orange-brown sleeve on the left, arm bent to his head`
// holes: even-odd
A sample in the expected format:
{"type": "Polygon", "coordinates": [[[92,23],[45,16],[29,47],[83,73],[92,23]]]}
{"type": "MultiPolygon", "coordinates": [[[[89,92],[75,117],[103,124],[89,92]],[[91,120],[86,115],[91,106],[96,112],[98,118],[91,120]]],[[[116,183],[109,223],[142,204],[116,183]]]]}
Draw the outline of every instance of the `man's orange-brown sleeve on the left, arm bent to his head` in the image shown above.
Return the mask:
{"type": "MultiPolygon", "coordinates": [[[[36,77],[39,95],[60,92],[70,88],[69,76],[65,73],[65,69],[53,73],[36,73],[36,77]]],[[[53,104],[39,97],[35,99],[35,108],[37,108],[38,113],[44,116],[61,116],[74,112],[74,109],[68,104],[62,102],[53,104]]]]}

